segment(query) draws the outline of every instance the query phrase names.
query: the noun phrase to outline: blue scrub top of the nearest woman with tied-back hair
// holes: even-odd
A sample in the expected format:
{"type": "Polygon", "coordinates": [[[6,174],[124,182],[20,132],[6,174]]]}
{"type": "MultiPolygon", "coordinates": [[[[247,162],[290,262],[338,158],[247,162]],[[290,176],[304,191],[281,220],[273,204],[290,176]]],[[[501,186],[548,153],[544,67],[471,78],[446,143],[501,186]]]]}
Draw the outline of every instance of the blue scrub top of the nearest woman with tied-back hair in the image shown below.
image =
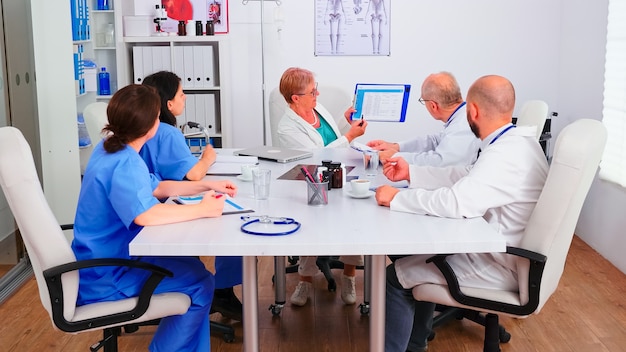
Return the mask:
{"type": "MultiPolygon", "coordinates": [[[[159,203],[152,195],[159,181],[137,152],[126,146],[107,153],[102,143],[89,159],[78,198],[72,241],[78,260],[129,259],[128,244],[142,229],[134,219],[159,203]]],[[[122,279],[127,271],[114,267],[80,270],[78,304],[107,300],[107,296],[117,299],[125,289],[135,291],[131,287],[136,282],[122,279]]]]}

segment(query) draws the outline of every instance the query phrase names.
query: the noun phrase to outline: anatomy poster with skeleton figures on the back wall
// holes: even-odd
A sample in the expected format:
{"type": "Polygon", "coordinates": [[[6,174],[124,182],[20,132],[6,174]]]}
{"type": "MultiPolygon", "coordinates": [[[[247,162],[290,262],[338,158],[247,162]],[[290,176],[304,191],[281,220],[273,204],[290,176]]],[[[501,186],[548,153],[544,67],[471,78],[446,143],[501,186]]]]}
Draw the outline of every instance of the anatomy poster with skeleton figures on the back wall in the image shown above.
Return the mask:
{"type": "Polygon", "coordinates": [[[389,55],[391,0],[315,0],[315,55],[389,55]]]}

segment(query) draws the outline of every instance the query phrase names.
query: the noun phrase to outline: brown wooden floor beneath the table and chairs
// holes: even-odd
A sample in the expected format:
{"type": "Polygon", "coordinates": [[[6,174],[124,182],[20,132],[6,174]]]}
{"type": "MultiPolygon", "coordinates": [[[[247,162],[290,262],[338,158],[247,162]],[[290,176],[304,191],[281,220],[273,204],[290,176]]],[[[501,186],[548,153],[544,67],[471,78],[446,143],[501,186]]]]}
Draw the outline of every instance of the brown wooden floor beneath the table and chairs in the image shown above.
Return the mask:
{"type": "MultiPolygon", "coordinates": [[[[345,306],[339,293],[328,292],[321,274],[315,277],[313,302],[301,308],[287,304],[279,317],[272,316],[267,310],[274,302],[272,263],[267,257],[259,261],[261,351],[368,351],[368,317],[361,316],[358,305],[345,306]]],[[[212,266],[210,259],[207,266],[212,266]]],[[[337,278],[340,274],[335,272],[337,278]]],[[[362,273],[358,275],[357,288],[363,283],[362,273]]],[[[288,295],[296,283],[297,275],[288,275],[288,295]]],[[[357,292],[362,294],[360,288],[357,292]]],[[[219,314],[212,318],[220,320],[219,314]]],[[[89,351],[100,337],[98,332],[69,335],[54,330],[34,279],[0,306],[0,319],[0,350],[6,352],[89,351]]],[[[511,341],[502,344],[504,352],[626,351],[626,276],[575,237],[559,288],[541,313],[501,322],[512,334],[511,341]]],[[[241,324],[234,326],[235,341],[224,343],[216,335],[212,351],[243,349],[241,324]]],[[[122,336],[120,351],[146,351],[153,332],[153,327],[143,327],[122,336]]],[[[452,321],[437,329],[429,351],[481,351],[482,337],[481,327],[452,321]]]]}

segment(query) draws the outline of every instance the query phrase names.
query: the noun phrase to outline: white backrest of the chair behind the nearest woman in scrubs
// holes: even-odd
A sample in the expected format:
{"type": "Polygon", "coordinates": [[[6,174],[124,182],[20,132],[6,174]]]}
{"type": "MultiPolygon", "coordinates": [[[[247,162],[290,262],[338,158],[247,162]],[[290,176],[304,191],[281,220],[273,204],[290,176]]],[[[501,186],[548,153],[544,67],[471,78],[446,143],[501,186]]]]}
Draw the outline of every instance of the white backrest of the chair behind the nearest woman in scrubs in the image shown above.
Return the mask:
{"type": "MultiPolygon", "coordinates": [[[[14,127],[0,128],[0,185],[33,266],[39,297],[52,319],[48,287],[43,271],[76,261],[41,189],[31,149],[22,132],[14,127]]],[[[74,316],[78,297],[78,272],[63,275],[65,317],[74,316]]]]}

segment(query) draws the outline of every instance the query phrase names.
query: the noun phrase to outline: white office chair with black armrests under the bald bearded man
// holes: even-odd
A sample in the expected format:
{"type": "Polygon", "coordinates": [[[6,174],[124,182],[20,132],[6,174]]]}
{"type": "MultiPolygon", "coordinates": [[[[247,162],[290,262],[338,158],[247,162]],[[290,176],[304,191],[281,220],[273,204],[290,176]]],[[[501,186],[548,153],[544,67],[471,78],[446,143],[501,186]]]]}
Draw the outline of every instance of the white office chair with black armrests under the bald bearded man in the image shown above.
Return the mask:
{"type": "Polygon", "coordinates": [[[507,247],[507,253],[518,257],[518,292],[460,286],[446,261],[449,255],[428,259],[441,270],[447,285],[416,286],[413,297],[459,308],[437,316],[434,326],[452,317],[473,320],[485,326],[484,351],[492,352],[500,351],[500,342],[510,339],[510,334],[498,323],[498,314],[526,317],[539,313],[563,274],[578,216],[596,174],[606,136],[602,123],[590,119],[576,120],[559,134],[546,183],[520,245],[507,247]]]}

